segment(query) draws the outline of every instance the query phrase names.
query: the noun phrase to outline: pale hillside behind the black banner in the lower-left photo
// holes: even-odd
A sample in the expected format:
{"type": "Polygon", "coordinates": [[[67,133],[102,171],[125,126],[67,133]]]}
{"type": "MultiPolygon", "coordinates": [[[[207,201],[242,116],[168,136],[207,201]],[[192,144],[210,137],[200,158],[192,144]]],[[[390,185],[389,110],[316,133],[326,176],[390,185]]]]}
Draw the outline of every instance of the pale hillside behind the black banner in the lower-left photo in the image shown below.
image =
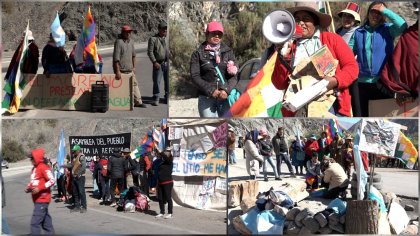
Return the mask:
{"type": "MultiPolygon", "coordinates": [[[[2,156],[10,160],[16,154],[24,158],[30,150],[43,147],[47,156],[55,159],[61,129],[64,129],[66,147],[69,136],[110,135],[131,132],[131,147],[139,145],[140,140],[160,120],[152,119],[66,119],[66,120],[12,120],[2,121],[2,156]],[[10,156],[8,156],[10,155],[10,156]]],[[[19,158],[19,157],[16,157],[19,158]]]]}

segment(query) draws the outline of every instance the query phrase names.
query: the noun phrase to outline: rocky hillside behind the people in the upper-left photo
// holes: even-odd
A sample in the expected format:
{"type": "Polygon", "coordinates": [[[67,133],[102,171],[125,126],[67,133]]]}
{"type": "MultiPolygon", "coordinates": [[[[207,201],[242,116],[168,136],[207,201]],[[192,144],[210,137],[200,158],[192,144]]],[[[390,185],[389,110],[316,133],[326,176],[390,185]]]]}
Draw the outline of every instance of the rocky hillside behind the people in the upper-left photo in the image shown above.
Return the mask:
{"type": "Polygon", "coordinates": [[[45,45],[56,12],[68,41],[75,41],[83,25],[88,6],[97,24],[97,43],[111,45],[128,24],[137,42],[146,41],[157,32],[161,20],[167,19],[165,2],[2,2],[2,42],[5,50],[15,50],[26,24],[39,46],[45,45]]]}

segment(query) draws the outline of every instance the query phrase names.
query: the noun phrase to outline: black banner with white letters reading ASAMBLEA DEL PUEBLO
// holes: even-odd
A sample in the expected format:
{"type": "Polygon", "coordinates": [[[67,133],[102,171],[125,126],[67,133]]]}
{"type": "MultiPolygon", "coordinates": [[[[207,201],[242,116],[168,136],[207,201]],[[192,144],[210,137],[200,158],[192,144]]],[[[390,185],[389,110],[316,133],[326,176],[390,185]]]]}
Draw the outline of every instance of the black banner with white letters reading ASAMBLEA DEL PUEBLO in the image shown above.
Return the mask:
{"type": "Polygon", "coordinates": [[[101,136],[70,136],[70,150],[79,145],[85,154],[87,162],[93,160],[93,156],[110,156],[113,150],[130,148],[131,133],[121,133],[101,136]]]}

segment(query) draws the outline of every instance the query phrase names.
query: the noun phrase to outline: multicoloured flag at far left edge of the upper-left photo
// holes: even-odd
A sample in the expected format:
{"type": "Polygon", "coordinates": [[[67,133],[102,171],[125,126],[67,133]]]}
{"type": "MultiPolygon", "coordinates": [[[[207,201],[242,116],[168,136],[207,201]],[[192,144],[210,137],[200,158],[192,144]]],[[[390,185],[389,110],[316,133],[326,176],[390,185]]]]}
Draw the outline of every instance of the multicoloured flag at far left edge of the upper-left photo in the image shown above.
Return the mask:
{"type": "Polygon", "coordinates": [[[23,38],[22,45],[17,49],[16,61],[11,61],[10,66],[13,68],[10,70],[11,73],[7,79],[7,82],[4,86],[6,95],[2,102],[2,111],[5,113],[8,111],[11,114],[14,114],[19,111],[20,99],[22,98],[21,82],[23,80],[23,73],[21,65],[25,58],[28,56],[28,31],[29,31],[29,22],[26,26],[25,37],[23,38]]]}

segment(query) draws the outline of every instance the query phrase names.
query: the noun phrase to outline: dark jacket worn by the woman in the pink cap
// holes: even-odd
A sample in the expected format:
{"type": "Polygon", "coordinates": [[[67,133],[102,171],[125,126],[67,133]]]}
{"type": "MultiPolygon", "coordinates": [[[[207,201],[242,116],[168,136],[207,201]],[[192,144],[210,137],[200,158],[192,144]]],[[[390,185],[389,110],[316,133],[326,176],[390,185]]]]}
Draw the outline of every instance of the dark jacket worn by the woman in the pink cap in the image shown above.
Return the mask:
{"type": "Polygon", "coordinates": [[[230,47],[226,44],[220,44],[220,64],[219,70],[223,76],[225,84],[222,84],[218,77],[218,73],[214,64],[216,59],[209,51],[204,50],[206,42],[202,43],[200,47],[191,55],[190,61],[190,75],[193,83],[197,86],[200,95],[210,97],[214,90],[223,89],[228,94],[238,83],[236,75],[227,73],[228,61],[233,61],[235,65],[235,55],[230,47]]]}

